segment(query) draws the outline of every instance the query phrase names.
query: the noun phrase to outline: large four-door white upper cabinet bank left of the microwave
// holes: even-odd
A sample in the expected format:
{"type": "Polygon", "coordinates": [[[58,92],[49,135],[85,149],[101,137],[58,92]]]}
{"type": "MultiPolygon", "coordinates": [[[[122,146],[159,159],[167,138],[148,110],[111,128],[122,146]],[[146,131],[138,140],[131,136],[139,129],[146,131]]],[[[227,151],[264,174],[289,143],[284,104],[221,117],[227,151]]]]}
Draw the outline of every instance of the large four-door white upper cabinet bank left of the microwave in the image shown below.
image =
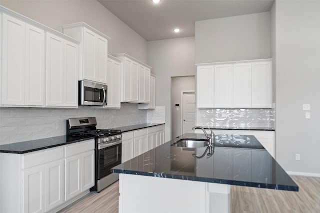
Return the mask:
{"type": "Polygon", "coordinates": [[[78,41],[0,6],[1,106],[77,107],[78,41]]]}

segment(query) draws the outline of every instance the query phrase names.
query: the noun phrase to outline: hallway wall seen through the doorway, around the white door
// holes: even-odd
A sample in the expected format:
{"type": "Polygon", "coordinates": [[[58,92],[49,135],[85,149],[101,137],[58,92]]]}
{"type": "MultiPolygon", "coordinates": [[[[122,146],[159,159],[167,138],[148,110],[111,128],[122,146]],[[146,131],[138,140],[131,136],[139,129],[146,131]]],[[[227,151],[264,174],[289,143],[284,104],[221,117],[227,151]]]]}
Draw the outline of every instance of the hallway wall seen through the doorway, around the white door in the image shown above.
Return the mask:
{"type": "MultiPolygon", "coordinates": [[[[195,78],[194,76],[185,76],[185,77],[172,77],[171,78],[171,137],[175,138],[179,135],[182,135],[181,132],[181,92],[182,91],[195,91],[195,78]],[[179,111],[176,111],[174,104],[179,104],[179,111]]],[[[195,113],[195,111],[194,111],[195,113]]],[[[195,118],[194,118],[195,119],[195,118]]],[[[194,122],[195,124],[195,122],[194,122]]]]}

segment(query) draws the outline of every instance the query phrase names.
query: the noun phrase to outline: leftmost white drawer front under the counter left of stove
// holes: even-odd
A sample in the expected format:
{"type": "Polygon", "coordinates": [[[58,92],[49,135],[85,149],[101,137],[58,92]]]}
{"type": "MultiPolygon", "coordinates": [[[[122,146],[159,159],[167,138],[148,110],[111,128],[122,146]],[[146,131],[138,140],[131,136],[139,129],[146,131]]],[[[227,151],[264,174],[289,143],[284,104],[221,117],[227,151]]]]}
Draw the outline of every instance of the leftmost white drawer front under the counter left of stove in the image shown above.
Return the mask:
{"type": "Polygon", "coordinates": [[[45,164],[50,161],[55,161],[63,157],[63,147],[50,148],[48,150],[39,150],[30,152],[21,156],[21,169],[34,167],[40,164],[45,164]]]}

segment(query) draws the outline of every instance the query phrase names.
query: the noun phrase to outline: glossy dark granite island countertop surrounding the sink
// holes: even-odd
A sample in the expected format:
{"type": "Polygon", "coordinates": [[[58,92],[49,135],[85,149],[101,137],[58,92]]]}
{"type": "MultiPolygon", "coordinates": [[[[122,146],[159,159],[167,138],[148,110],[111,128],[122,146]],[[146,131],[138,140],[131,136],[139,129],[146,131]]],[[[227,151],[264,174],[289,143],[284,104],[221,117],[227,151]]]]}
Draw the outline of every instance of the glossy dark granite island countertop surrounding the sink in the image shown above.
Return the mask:
{"type": "Polygon", "coordinates": [[[201,181],[218,184],[298,191],[298,186],[254,136],[216,135],[210,158],[195,159],[205,147],[171,146],[180,139],[203,140],[203,134],[184,134],[114,168],[114,173],[201,181]]]}

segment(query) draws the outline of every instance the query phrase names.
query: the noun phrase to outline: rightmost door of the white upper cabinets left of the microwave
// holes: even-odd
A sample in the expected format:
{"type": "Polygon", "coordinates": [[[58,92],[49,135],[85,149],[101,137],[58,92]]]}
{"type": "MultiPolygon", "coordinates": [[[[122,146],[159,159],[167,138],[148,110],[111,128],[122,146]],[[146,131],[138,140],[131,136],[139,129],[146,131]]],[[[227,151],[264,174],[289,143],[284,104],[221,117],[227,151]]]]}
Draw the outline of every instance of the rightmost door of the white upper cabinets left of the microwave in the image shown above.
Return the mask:
{"type": "Polygon", "coordinates": [[[65,107],[77,107],[78,105],[78,45],[69,41],[64,44],[64,74],[65,74],[65,107]]]}

